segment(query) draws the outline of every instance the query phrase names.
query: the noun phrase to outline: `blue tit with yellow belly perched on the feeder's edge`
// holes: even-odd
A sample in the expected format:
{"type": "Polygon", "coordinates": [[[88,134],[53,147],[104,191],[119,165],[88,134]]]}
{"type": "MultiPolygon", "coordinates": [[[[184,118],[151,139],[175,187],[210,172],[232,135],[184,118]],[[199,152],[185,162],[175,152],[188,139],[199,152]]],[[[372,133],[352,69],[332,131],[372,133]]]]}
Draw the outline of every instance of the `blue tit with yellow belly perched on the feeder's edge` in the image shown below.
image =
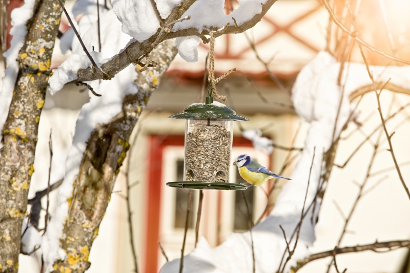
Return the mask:
{"type": "Polygon", "coordinates": [[[260,186],[271,178],[279,177],[291,180],[290,178],[278,176],[253,160],[249,155],[238,156],[234,165],[238,166],[240,176],[248,183],[260,186]]]}

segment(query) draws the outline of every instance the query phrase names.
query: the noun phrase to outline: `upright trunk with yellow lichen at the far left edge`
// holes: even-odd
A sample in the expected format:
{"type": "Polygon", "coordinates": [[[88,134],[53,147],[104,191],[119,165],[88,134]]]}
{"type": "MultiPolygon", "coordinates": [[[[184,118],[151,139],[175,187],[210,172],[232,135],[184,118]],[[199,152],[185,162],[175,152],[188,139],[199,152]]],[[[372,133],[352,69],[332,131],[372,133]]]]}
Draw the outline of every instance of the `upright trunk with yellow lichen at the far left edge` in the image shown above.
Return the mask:
{"type": "Polygon", "coordinates": [[[37,1],[20,50],[20,69],[0,151],[0,270],[17,272],[21,229],[34,172],[40,114],[50,74],[51,54],[60,23],[58,1],[37,1]]]}

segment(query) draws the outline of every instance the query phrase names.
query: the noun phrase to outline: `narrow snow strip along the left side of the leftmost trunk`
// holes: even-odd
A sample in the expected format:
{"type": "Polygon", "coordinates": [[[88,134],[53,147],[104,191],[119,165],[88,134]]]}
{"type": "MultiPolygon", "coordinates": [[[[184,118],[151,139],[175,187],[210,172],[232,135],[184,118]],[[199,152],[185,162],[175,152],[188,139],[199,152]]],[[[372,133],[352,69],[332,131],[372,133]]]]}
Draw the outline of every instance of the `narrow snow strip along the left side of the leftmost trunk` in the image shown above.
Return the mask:
{"type": "MultiPolygon", "coordinates": [[[[33,16],[34,4],[35,0],[25,0],[22,7],[16,8],[11,12],[11,25],[13,27],[10,30],[10,34],[13,38],[11,39],[9,50],[3,54],[7,58],[8,67],[4,72],[5,76],[2,79],[3,87],[0,92],[0,129],[3,128],[9,114],[11,98],[18,74],[18,53],[22,49],[27,36],[27,21],[33,16]]],[[[3,146],[2,138],[3,135],[0,134],[0,149],[3,146]]]]}

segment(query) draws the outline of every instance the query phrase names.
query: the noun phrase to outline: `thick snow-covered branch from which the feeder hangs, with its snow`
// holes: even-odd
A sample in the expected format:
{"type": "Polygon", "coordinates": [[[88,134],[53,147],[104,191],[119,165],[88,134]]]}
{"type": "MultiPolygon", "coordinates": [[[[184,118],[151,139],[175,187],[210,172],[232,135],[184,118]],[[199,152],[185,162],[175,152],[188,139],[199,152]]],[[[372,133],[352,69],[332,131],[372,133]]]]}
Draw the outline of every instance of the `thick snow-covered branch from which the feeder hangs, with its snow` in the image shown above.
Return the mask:
{"type": "MultiPolygon", "coordinates": [[[[146,1],[147,3],[149,2],[149,0],[146,1]]],[[[160,10],[161,17],[168,14],[165,22],[166,27],[164,27],[164,29],[160,28],[153,9],[145,9],[144,12],[146,13],[142,14],[140,11],[141,7],[133,6],[136,13],[130,14],[130,7],[128,5],[136,5],[134,2],[126,2],[125,0],[113,1],[113,10],[122,23],[122,30],[134,39],[130,41],[126,48],[101,64],[100,68],[107,73],[109,77],[114,77],[128,65],[135,64],[142,56],[148,55],[162,40],[176,37],[198,36],[204,43],[208,43],[209,40],[205,35],[208,35],[210,31],[216,31],[215,37],[229,33],[242,33],[255,26],[276,1],[277,0],[264,0],[261,1],[261,3],[252,1],[245,2],[243,6],[239,6],[239,8],[234,10],[230,15],[223,14],[223,1],[217,1],[216,11],[219,11],[221,14],[216,12],[215,15],[215,4],[207,7],[208,3],[204,4],[203,1],[200,0],[185,0],[181,2],[180,5],[168,9],[168,12],[167,10],[162,12],[160,10]],[[221,3],[222,6],[220,6],[221,3]],[[125,13],[125,10],[127,10],[128,13],[125,13]],[[208,16],[202,14],[208,11],[208,16]],[[167,26],[167,24],[188,15],[191,15],[189,20],[167,26]],[[235,18],[237,24],[234,23],[232,17],[235,18]],[[139,20],[141,21],[139,25],[132,21],[132,19],[136,20],[137,18],[138,22],[139,20]],[[208,20],[204,18],[208,18],[208,20]],[[150,25],[145,28],[144,26],[146,26],[148,22],[150,25]]],[[[161,7],[159,4],[160,3],[157,4],[158,8],[161,7]]],[[[149,5],[151,7],[151,4],[149,5]]],[[[70,80],[71,82],[101,79],[101,75],[90,67],[79,68],[76,75],[76,79],[70,80]]]]}

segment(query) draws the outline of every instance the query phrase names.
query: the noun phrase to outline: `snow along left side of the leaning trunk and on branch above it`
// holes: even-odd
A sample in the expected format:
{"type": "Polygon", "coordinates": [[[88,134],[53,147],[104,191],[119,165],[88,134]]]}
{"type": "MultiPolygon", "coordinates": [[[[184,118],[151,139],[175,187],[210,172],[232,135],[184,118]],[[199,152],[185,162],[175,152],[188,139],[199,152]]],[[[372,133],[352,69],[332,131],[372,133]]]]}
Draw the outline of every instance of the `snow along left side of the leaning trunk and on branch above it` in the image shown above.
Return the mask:
{"type": "MultiPolygon", "coordinates": [[[[84,16],[86,17],[86,15],[84,16]]],[[[80,21],[79,25],[81,27],[80,21]]],[[[84,35],[84,43],[88,48],[98,43],[98,34],[94,30],[96,23],[90,25],[88,31],[84,35]]],[[[108,11],[101,16],[101,44],[102,51],[100,58],[109,58],[124,48],[130,36],[122,33],[121,24],[118,22],[115,14],[108,11]]],[[[83,31],[84,29],[81,28],[83,31]]],[[[73,44],[76,39],[73,40],[73,44]]],[[[74,47],[73,47],[74,49],[74,47]]],[[[85,53],[82,49],[73,51],[72,56],[76,58],[82,57],[85,60],[85,53]]],[[[81,60],[81,58],[79,58],[81,60]]],[[[61,67],[54,71],[54,75],[58,75],[59,71],[64,74],[63,69],[72,65],[73,59],[68,59],[67,65],[63,63],[61,67]]],[[[53,77],[54,77],[53,75],[53,77]]],[[[134,79],[136,73],[133,66],[128,66],[126,69],[119,72],[111,80],[104,80],[99,83],[98,80],[89,82],[95,92],[101,94],[101,97],[96,97],[91,94],[90,102],[84,104],[76,122],[75,135],[73,143],[66,160],[66,173],[63,184],[58,187],[58,205],[48,225],[47,232],[43,239],[42,249],[45,262],[48,264],[47,270],[53,271],[53,264],[57,259],[64,259],[66,253],[60,248],[59,240],[62,236],[64,222],[68,213],[67,199],[72,197],[73,182],[78,175],[81,159],[87,148],[87,141],[91,136],[92,131],[97,124],[105,124],[111,118],[121,112],[122,100],[127,94],[135,94],[138,92],[134,79]]],[[[52,81],[52,79],[50,78],[52,81]]],[[[55,90],[57,91],[57,90],[55,90]]]]}

